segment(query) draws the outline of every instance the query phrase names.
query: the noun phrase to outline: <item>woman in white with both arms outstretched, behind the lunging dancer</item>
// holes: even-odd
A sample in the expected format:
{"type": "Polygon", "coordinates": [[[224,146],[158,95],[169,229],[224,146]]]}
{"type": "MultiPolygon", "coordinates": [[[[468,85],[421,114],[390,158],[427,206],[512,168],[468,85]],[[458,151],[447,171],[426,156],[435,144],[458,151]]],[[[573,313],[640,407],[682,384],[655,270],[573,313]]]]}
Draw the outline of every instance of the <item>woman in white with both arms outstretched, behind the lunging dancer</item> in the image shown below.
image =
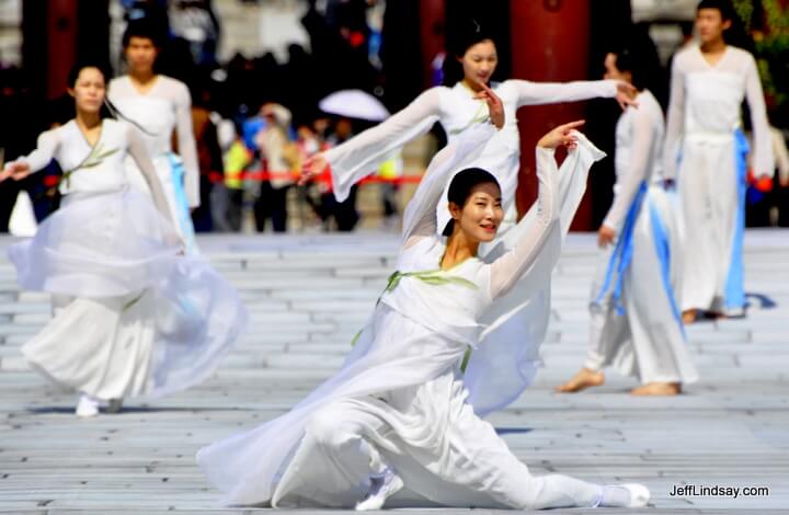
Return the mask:
{"type": "MultiPolygon", "coordinates": [[[[375,173],[392,151],[426,134],[436,122],[441,123],[449,142],[464,130],[488,117],[488,111],[480,92],[490,84],[504,103],[506,125],[488,144],[474,162],[464,163],[480,167],[495,174],[502,185],[505,222],[500,229],[503,234],[517,220],[515,192],[521,169],[521,137],[516,112],[525,105],[545,105],[561,102],[576,102],[596,98],[616,98],[622,107],[632,101],[628,96],[632,87],[615,80],[576,82],[531,82],[510,79],[490,82],[498,65],[496,47],[493,39],[482,31],[469,34],[458,47],[455,58],[462,67],[462,79],[451,87],[431,88],[419,95],[402,111],[381,124],[361,133],[342,145],[308,159],[304,165],[307,178],[315,176],[331,167],[335,196],[340,202],[347,197],[350,188],[361,179],[375,173]]],[[[444,195],[446,199],[446,192],[444,195]]],[[[438,230],[449,221],[444,205],[436,210],[438,230]]]]}

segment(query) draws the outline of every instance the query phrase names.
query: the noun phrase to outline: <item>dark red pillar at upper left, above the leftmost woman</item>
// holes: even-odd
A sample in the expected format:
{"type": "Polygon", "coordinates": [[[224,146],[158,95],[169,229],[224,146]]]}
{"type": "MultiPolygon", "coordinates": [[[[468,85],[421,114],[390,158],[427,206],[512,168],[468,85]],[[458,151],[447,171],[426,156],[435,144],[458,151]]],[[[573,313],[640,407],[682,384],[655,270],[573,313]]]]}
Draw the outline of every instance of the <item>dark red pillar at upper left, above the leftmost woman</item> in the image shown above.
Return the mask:
{"type": "Polygon", "coordinates": [[[49,99],[66,92],[68,73],[77,58],[78,0],[46,2],[47,91],[49,99]]]}

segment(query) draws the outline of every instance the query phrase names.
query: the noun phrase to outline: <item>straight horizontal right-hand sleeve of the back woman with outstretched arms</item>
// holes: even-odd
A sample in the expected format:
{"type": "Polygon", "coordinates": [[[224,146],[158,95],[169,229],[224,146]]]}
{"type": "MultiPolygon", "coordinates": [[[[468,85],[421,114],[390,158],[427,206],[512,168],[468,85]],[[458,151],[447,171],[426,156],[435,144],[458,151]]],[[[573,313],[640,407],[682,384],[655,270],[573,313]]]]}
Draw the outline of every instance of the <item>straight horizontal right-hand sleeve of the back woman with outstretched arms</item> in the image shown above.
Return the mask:
{"type": "Polygon", "coordinates": [[[530,82],[508,80],[517,93],[517,106],[557,104],[588,99],[611,99],[617,94],[617,81],[591,80],[574,82],[530,82]]]}

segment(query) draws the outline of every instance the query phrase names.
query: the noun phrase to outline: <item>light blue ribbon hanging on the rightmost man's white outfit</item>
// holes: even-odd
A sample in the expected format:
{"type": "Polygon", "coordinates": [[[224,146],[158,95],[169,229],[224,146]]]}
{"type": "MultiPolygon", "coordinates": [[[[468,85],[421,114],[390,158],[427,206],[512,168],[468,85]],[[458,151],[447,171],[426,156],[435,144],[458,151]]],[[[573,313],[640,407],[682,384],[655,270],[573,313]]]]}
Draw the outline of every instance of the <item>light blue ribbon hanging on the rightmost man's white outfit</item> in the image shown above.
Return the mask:
{"type": "Polygon", "coordinates": [[[748,142],[741,129],[734,131],[734,180],[737,186],[737,207],[734,216],[734,239],[732,241],[729,274],[723,293],[723,307],[727,309],[742,309],[745,307],[744,266],[743,266],[743,233],[745,231],[745,192],[747,191],[748,142]]]}

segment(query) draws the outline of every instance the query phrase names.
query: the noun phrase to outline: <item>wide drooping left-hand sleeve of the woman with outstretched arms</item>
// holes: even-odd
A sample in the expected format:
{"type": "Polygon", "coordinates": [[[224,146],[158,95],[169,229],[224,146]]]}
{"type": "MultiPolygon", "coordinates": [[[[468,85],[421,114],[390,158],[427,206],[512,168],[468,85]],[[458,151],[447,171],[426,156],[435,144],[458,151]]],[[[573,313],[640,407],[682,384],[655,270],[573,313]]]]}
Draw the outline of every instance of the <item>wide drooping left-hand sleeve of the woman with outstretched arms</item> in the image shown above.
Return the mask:
{"type": "Polygon", "coordinates": [[[328,150],[324,156],[336,199],[347,198],[351,186],[373,173],[393,150],[427,133],[438,121],[439,113],[441,88],[431,88],[386,122],[328,150]]]}

